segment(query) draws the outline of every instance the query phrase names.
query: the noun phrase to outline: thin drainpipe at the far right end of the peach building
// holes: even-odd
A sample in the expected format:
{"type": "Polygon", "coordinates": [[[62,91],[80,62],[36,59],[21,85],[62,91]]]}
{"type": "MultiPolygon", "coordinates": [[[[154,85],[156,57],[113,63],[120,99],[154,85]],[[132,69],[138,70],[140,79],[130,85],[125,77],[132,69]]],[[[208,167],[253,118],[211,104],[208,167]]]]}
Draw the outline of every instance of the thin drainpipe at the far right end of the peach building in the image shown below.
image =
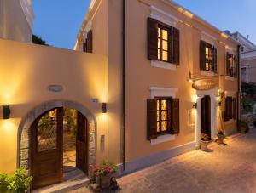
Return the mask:
{"type": "Polygon", "coordinates": [[[237,91],[237,100],[236,100],[236,106],[237,106],[237,111],[236,111],[236,117],[237,117],[237,122],[236,122],[236,127],[237,129],[239,129],[239,122],[240,122],[240,112],[241,112],[241,76],[240,76],[240,61],[241,61],[241,45],[237,46],[237,62],[238,62],[238,69],[237,69],[237,87],[238,87],[238,91],[237,91]]]}

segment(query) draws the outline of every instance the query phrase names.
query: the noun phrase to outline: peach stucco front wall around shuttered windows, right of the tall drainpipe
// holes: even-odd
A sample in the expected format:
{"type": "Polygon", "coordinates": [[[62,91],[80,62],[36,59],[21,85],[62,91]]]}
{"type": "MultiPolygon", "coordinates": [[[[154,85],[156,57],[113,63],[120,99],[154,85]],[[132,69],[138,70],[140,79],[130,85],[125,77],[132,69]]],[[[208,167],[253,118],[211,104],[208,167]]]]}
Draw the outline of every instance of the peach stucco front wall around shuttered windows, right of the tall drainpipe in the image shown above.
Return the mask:
{"type": "MultiPolygon", "coordinates": [[[[202,31],[205,31],[209,37],[213,37],[211,41],[218,49],[218,75],[224,75],[225,73],[225,46],[228,45],[235,49],[237,46],[234,41],[221,37],[219,32],[212,30],[206,24],[201,24],[187,15],[181,14],[167,2],[154,0],[126,1],[127,162],[195,141],[196,128],[188,124],[188,114],[189,110],[192,109],[195,90],[191,87],[188,77],[189,67],[193,75],[201,75],[199,50],[202,31]],[[176,71],[151,66],[151,61],[147,58],[147,18],[151,14],[150,6],[177,18],[176,27],[180,30],[180,65],[177,66],[176,71]],[[180,133],[174,140],[159,145],[151,145],[150,141],[147,140],[146,99],[151,98],[148,89],[150,87],[177,88],[176,97],[180,99],[180,133]]],[[[234,81],[225,80],[225,77],[212,77],[212,79],[216,80],[217,88],[236,93],[237,79],[234,81]]],[[[227,133],[236,132],[236,122],[226,124],[225,128],[227,133]]]]}

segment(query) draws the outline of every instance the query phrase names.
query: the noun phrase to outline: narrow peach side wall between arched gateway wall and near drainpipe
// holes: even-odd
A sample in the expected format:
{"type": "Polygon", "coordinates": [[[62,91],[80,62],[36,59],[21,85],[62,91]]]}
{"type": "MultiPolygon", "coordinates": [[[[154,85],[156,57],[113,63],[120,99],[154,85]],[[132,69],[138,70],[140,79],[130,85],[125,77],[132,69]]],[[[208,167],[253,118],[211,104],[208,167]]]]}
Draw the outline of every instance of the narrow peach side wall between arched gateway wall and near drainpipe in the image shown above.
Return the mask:
{"type": "MultiPolygon", "coordinates": [[[[79,46],[84,41],[86,31],[93,32],[93,53],[108,57],[108,159],[110,162],[121,162],[121,26],[122,1],[99,0],[86,16],[85,31],[80,31],[79,46]]],[[[85,36],[86,37],[86,36],[85,36]]]]}

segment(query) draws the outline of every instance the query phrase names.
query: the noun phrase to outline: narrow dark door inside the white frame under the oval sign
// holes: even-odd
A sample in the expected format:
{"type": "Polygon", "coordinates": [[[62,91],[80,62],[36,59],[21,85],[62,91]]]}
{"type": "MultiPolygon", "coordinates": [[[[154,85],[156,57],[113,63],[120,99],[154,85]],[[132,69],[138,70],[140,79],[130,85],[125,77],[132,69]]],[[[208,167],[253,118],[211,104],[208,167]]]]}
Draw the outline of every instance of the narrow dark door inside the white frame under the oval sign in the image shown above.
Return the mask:
{"type": "Polygon", "coordinates": [[[201,99],[201,133],[207,134],[209,139],[211,136],[211,97],[204,96],[201,99]]]}

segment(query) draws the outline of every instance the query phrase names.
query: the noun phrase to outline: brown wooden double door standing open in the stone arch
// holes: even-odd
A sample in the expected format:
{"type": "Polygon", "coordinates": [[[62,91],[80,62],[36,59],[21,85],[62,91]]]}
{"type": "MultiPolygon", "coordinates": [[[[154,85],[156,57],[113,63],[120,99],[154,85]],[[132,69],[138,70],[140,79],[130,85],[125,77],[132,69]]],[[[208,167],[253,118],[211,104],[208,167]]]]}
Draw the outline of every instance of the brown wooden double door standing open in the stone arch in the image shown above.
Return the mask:
{"type": "MultiPolygon", "coordinates": [[[[60,183],[63,178],[63,108],[55,108],[32,123],[32,189],[60,183]]],[[[88,122],[79,111],[76,131],[76,167],[87,173],[88,122]]]]}

